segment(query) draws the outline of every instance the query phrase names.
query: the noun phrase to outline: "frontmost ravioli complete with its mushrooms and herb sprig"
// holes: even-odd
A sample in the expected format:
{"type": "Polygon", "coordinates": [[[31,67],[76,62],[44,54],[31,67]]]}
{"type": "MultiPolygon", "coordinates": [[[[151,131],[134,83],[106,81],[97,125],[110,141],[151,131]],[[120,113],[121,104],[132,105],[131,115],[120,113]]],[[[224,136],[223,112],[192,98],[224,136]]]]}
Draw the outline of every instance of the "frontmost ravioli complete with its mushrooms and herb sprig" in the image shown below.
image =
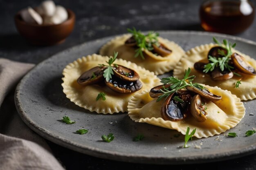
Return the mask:
{"type": "Polygon", "coordinates": [[[129,117],[135,122],[175,129],[183,135],[187,127],[196,128],[193,136],[197,138],[235,127],[245,115],[243,102],[216,86],[193,84],[194,77],[168,77],[162,79],[163,85],[136,94],[128,103],[129,117]],[[172,83],[165,84],[166,80],[172,83]]]}

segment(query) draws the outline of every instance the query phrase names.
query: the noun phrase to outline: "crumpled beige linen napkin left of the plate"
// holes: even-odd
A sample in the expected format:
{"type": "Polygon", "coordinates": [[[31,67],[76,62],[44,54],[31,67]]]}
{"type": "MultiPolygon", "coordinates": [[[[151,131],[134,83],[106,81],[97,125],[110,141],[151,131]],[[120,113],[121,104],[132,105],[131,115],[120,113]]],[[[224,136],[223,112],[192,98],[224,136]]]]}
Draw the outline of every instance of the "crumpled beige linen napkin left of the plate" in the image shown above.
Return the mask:
{"type": "MultiPolygon", "coordinates": [[[[7,93],[33,67],[34,64],[0,58],[0,106],[7,93]]],[[[0,134],[0,170],[64,170],[46,141],[15,114],[11,121],[5,122],[8,124],[5,134],[13,137],[0,134]]]]}

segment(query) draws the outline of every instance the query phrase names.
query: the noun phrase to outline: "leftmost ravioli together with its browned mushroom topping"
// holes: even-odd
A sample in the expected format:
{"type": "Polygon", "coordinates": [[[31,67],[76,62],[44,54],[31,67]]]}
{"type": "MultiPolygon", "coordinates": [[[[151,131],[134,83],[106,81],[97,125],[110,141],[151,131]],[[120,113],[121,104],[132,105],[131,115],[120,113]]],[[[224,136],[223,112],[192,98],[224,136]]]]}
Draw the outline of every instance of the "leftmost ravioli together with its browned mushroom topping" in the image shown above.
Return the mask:
{"type": "MultiPolygon", "coordinates": [[[[122,59],[116,59],[114,63],[115,66],[121,65],[125,67],[122,69],[130,68],[136,71],[139,75],[139,79],[131,79],[131,82],[133,84],[134,82],[139,81],[138,86],[131,86],[131,88],[124,89],[122,88],[123,86],[121,86],[120,88],[118,84],[115,84],[116,81],[113,81],[115,77],[114,75],[112,75],[112,78],[108,81],[106,81],[106,79],[105,82],[104,79],[103,81],[100,80],[101,69],[106,69],[104,68],[103,64],[106,64],[106,61],[110,60],[110,58],[93,54],[79,58],[76,61],[68,64],[63,70],[64,77],[62,78],[63,83],[61,84],[66,97],[76,105],[90,111],[96,111],[97,113],[103,114],[113,114],[118,112],[126,112],[129,99],[136,93],[141,93],[143,90],[149,90],[152,86],[160,84],[159,78],[157,78],[153,72],[149,72],[145,68],[137,66],[135,63],[127,62],[126,60],[122,59]],[[99,66],[99,64],[103,67],[99,66]],[[83,81],[86,79],[86,77],[88,77],[85,73],[87,71],[92,71],[92,75],[89,75],[89,81],[83,81]],[[97,84],[92,84],[92,81],[99,82],[97,82],[97,84]],[[115,86],[117,87],[115,89],[117,91],[113,91],[111,89],[115,86]],[[124,93],[118,92],[120,89],[121,91],[123,89],[124,93]],[[133,90],[135,92],[132,93],[133,90]],[[103,100],[103,98],[99,98],[101,96],[105,97],[106,99],[103,100]]],[[[112,68],[110,70],[112,70],[112,68]]],[[[130,76],[127,75],[127,77],[130,76]]]]}

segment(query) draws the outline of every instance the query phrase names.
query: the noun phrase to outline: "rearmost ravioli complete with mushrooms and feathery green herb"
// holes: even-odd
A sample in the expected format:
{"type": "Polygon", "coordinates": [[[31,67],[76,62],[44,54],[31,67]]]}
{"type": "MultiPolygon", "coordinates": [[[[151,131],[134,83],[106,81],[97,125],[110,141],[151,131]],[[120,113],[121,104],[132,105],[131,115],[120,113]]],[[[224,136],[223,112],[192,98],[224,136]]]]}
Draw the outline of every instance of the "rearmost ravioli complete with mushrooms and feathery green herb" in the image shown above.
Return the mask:
{"type": "Polygon", "coordinates": [[[103,45],[100,55],[110,56],[118,51],[120,58],[161,75],[173,70],[185,53],[175,42],[158,37],[157,33],[144,35],[135,29],[130,32],[132,34],[118,36],[103,45]]]}

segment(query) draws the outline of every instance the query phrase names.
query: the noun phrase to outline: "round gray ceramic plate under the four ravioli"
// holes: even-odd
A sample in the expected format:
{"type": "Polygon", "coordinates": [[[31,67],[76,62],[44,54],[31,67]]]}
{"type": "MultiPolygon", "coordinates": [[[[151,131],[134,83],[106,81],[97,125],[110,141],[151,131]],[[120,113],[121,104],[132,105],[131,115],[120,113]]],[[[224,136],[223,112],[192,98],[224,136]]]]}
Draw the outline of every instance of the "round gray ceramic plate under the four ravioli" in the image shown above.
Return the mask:
{"type": "MultiPolygon", "coordinates": [[[[256,43],[241,38],[206,32],[159,31],[160,36],[180,44],[186,51],[190,48],[212,42],[215,36],[236,42],[238,50],[252,57],[256,54],[256,43]]],[[[16,89],[16,107],[22,120],[44,138],[72,150],[95,157],[136,163],[179,164],[202,163],[231,159],[251,154],[256,150],[256,135],[245,137],[247,130],[255,127],[255,100],[244,102],[246,114],[233,129],[219,136],[189,141],[190,148],[178,148],[184,144],[184,136],[176,130],[169,130],[149,124],[135,123],[127,113],[103,115],[91,113],[76,106],[62,92],[62,70],[81,56],[97,53],[99,48],[113,37],[86,42],[58,53],[38,64],[20,82],[16,89]],[[76,124],[63,124],[64,115],[76,120],[76,124]],[[89,132],[78,135],[74,132],[86,128],[89,132]],[[112,132],[115,140],[101,141],[101,135],[112,132]],[[238,137],[230,138],[228,132],[238,137]],[[137,134],[145,138],[133,142],[137,134]],[[216,140],[219,137],[220,140],[216,140]],[[196,149],[194,146],[200,146],[196,149]]],[[[166,75],[171,73],[166,73],[166,75]]]]}

